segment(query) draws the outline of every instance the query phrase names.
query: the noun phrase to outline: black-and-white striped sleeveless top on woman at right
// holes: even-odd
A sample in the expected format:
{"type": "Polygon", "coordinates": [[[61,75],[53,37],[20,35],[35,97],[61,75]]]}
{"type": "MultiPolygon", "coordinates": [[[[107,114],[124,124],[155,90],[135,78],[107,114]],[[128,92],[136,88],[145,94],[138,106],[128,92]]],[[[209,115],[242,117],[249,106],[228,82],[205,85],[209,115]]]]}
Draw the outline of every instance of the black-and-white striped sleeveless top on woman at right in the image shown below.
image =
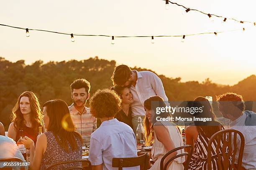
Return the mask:
{"type": "MultiPolygon", "coordinates": [[[[223,126],[221,130],[224,130],[223,126]]],[[[195,146],[194,146],[195,151],[192,153],[188,170],[207,170],[207,147],[208,147],[209,140],[210,138],[207,138],[205,133],[198,133],[198,138],[195,141],[195,146]]],[[[222,147],[222,145],[223,143],[221,140],[220,148],[222,147]]],[[[216,155],[216,147],[217,147],[217,141],[214,140],[214,142],[212,143],[211,155],[216,155]]],[[[222,162],[221,162],[221,165],[223,165],[222,162]]],[[[223,169],[223,167],[220,167],[219,170],[221,169],[223,169]]],[[[212,162],[212,170],[218,170],[217,158],[214,159],[214,161],[212,162]]]]}

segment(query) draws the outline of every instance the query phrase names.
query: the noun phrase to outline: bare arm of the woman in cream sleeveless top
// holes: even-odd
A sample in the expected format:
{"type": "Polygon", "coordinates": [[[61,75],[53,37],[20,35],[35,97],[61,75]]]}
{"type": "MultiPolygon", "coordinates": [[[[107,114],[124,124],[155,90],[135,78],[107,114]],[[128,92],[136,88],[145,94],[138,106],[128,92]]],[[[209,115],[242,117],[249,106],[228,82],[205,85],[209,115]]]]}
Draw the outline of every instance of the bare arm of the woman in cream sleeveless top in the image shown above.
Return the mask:
{"type": "MultiPolygon", "coordinates": [[[[154,131],[156,133],[156,138],[159,140],[159,142],[163,143],[164,147],[168,151],[173,150],[175,148],[172,138],[169,135],[168,130],[164,127],[164,125],[154,125],[154,131]]],[[[166,160],[169,160],[170,158],[176,155],[177,155],[177,151],[174,151],[166,158],[166,160]]],[[[165,162],[164,162],[164,165],[165,165],[165,162]]]]}

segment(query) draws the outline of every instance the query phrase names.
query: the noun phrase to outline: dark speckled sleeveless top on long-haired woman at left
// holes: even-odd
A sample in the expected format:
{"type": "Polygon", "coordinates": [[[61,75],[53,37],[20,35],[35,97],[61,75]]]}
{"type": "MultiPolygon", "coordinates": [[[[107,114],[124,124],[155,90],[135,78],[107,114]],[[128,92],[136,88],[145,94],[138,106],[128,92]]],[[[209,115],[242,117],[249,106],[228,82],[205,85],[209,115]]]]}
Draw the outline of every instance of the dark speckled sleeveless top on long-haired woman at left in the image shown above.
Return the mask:
{"type": "MultiPolygon", "coordinates": [[[[42,157],[40,170],[46,170],[47,167],[54,163],[59,163],[60,161],[66,160],[77,160],[82,159],[82,141],[76,136],[75,139],[77,141],[78,150],[72,151],[70,144],[69,145],[69,153],[67,153],[64,148],[57,143],[54,134],[52,132],[44,133],[47,138],[47,146],[46,151],[42,157]]],[[[81,163],[67,163],[63,165],[58,165],[51,170],[61,170],[63,168],[69,168],[70,165],[79,166],[81,163]]]]}

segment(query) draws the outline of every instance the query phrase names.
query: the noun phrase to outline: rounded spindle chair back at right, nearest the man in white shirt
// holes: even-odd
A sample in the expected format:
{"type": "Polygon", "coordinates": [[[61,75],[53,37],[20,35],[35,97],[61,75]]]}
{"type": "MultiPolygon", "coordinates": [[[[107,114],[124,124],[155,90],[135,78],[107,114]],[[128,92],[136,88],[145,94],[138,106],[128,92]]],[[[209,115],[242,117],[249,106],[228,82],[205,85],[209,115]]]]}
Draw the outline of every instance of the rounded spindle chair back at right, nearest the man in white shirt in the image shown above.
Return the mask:
{"type": "MultiPolygon", "coordinates": [[[[235,163],[235,156],[237,154],[237,135],[240,136],[241,145],[238,155],[238,169],[242,168],[242,158],[243,158],[243,148],[244,148],[244,137],[241,132],[238,130],[227,129],[221,130],[210,138],[207,147],[207,168],[208,170],[212,169],[212,161],[217,158],[218,169],[228,170],[233,169],[235,163]],[[216,140],[216,154],[211,155],[212,153],[212,143],[216,140]],[[221,146],[222,143],[222,146],[221,146]],[[233,144],[233,148],[232,148],[233,144]],[[231,158],[231,163],[230,163],[231,158]],[[222,167],[223,165],[223,167],[222,167]]],[[[213,162],[214,163],[214,162],[213,162]]]]}

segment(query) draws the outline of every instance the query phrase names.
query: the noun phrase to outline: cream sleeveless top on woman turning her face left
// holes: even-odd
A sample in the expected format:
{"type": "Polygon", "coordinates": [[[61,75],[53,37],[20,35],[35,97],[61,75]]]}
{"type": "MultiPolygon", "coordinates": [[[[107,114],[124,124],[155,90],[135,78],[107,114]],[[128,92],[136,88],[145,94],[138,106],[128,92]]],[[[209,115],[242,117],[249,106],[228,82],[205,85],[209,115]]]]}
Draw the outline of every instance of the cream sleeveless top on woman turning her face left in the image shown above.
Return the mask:
{"type": "MultiPolygon", "coordinates": [[[[180,146],[183,146],[183,140],[181,137],[181,134],[177,128],[177,126],[169,121],[161,121],[161,124],[164,125],[164,127],[168,130],[169,136],[171,137],[173,143],[174,143],[174,148],[178,148],[180,146]]],[[[159,140],[156,138],[156,133],[154,133],[154,144],[152,148],[152,160],[156,162],[156,160],[161,160],[161,158],[168,152],[159,140]]],[[[177,150],[177,155],[184,153],[184,149],[182,150],[177,150]]],[[[185,156],[179,157],[174,159],[175,162],[181,164],[185,162],[185,156]]]]}

